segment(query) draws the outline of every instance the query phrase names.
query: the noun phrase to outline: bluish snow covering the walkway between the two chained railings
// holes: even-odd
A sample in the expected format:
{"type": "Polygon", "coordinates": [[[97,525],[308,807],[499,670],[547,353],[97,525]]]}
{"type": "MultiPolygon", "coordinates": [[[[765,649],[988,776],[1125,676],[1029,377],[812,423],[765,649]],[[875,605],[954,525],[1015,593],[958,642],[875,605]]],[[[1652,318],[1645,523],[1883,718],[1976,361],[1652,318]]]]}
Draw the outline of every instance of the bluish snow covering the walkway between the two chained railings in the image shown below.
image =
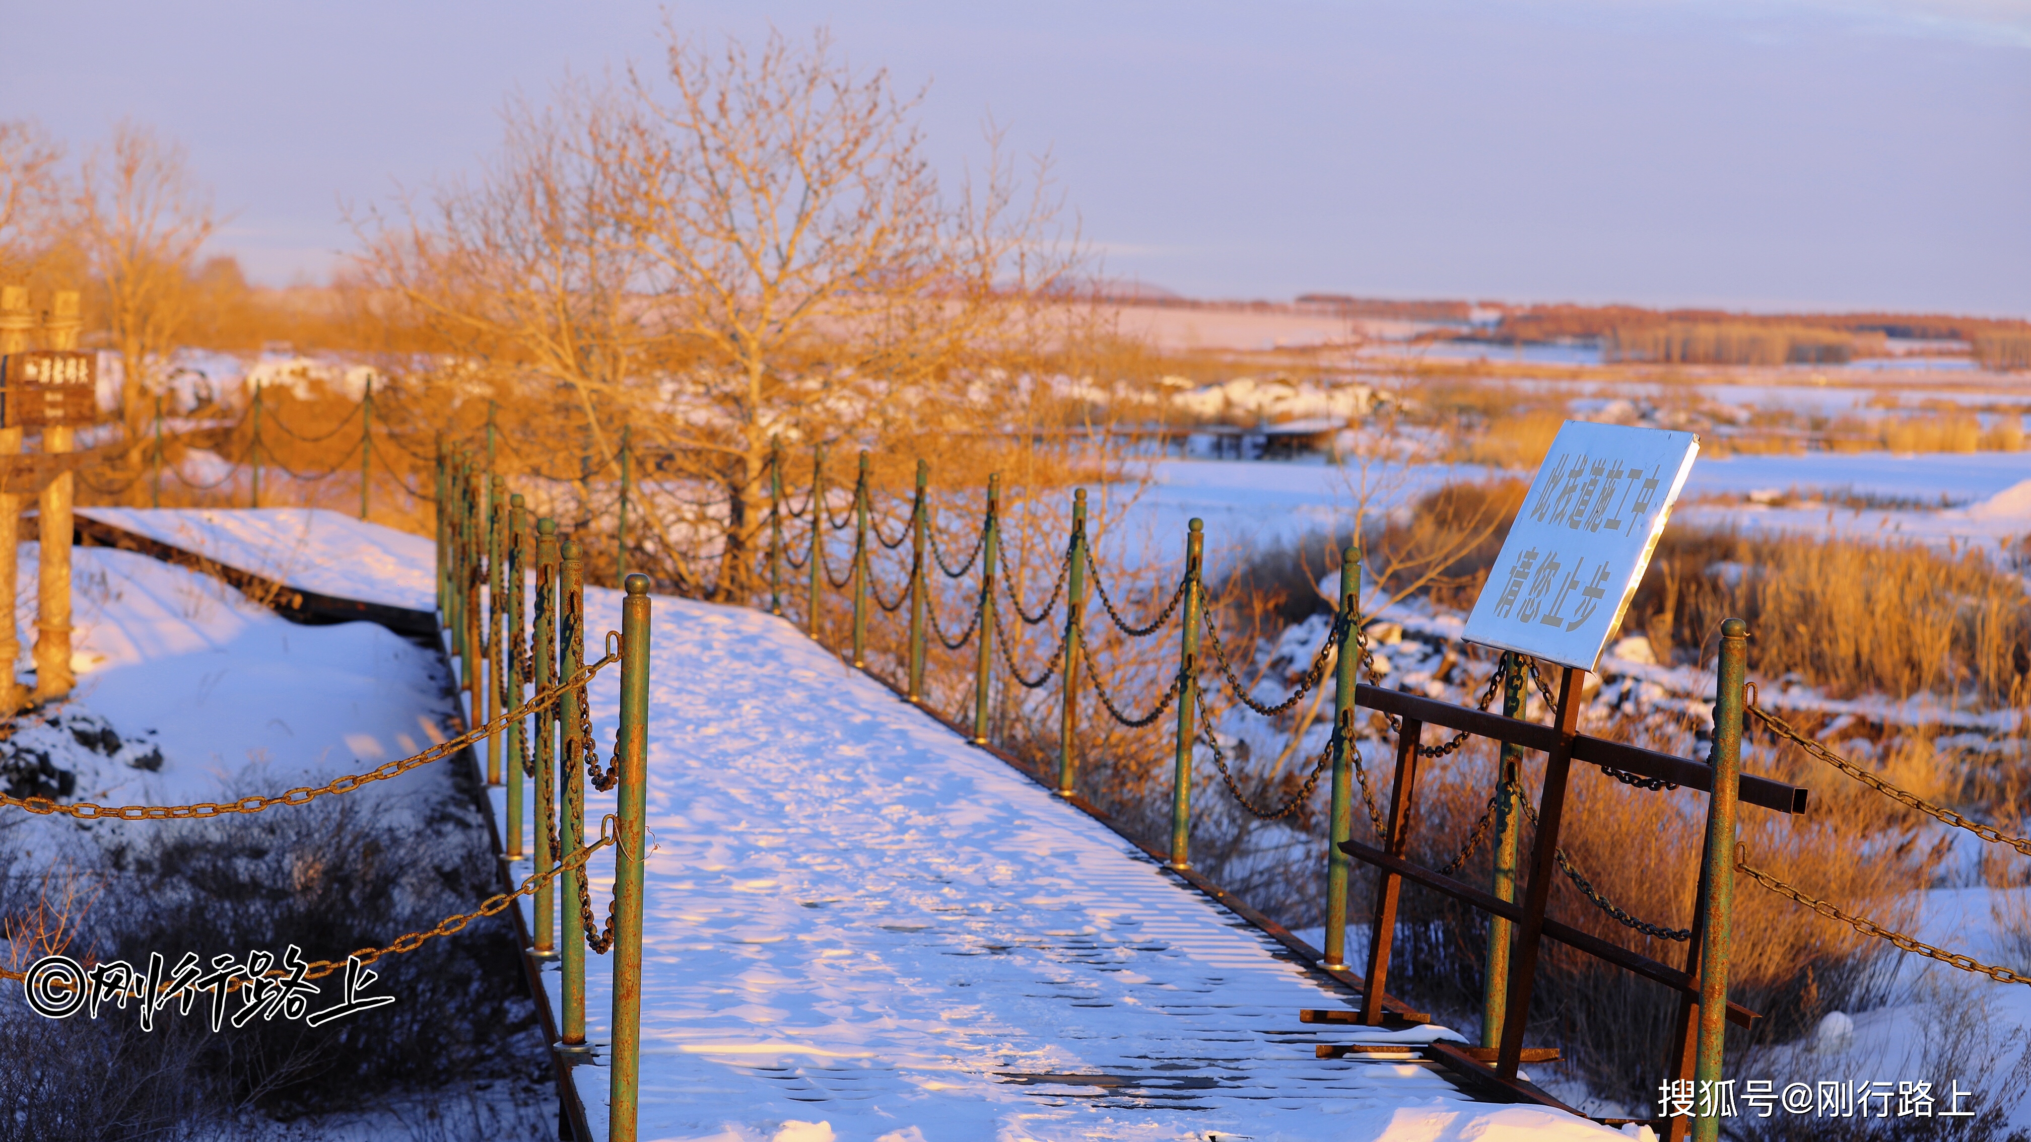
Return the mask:
{"type": "MultiPolygon", "coordinates": [[[[642,1138],[1621,1136],[1316,1059],[1351,1036],[1298,1010],[1345,1000],[1259,931],[788,622],[654,606],[642,1138]]],[[[619,628],[617,591],[587,608],[619,628]]],[[[591,831],[607,811],[593,795],[591,831]]],[[[593,870],[599,900],[607,853],[593,870]]],[[[607,971],[591,957],[601,1061],[607,971]]],[[[607,1073],[575,1075],[603,1136],[607,1073]]]]}

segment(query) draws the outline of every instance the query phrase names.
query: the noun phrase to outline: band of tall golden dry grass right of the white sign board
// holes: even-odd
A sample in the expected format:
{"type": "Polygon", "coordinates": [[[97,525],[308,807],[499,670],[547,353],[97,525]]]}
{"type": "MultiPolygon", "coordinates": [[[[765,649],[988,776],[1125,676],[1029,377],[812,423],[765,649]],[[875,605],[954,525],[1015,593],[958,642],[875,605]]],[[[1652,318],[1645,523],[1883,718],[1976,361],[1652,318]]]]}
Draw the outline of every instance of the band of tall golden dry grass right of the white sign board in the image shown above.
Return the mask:
{"type": "Polygon", "coordinates": [[[1704,658],[1730,616],[1749,622],[1757,677],[1797,675],[1836,697],[2001,705],[2031,644],[2023,581],[1980,551],[1732,528],[1667,528],[1623,628],[1704,658]]]}

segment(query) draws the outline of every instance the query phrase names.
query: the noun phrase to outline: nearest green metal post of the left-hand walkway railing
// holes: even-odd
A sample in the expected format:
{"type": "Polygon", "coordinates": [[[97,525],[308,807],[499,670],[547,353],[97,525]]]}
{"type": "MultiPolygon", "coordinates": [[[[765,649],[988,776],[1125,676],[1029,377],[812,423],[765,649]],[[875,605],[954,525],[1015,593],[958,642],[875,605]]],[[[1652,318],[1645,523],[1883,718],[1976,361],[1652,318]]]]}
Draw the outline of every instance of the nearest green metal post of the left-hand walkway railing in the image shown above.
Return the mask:
{"type": "Polygon", "coordinates": [[[648,575],[621,601],[621,780],[613,853],[613,1046],[607,1055],[607,1142],[636,1142],[642,1091],[642,872],[648,801],[648,575]]]}

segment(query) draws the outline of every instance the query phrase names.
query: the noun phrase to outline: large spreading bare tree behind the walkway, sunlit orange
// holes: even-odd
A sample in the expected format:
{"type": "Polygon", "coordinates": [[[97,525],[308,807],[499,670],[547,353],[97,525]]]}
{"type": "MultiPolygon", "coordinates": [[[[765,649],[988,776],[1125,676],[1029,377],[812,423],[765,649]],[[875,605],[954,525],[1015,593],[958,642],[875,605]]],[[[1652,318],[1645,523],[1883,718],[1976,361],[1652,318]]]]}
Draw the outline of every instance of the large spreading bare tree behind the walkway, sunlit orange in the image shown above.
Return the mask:
{"type": "Polygon", "coordinates": [[[1011,388],[995,370],[1062,335],[1072,250],[1042,171],[997,146],[944,193],[916,102],[823,33],[760,53],[668,33],[664,69],[508,122],[479,181],[372,236],[370,276],[463,370],[569,390],[601,465],[628,423],[666,492],[648,524],[717,563],[686,575],[717,595],[747,587],[774,439],[981,421],[1011,388]]]}

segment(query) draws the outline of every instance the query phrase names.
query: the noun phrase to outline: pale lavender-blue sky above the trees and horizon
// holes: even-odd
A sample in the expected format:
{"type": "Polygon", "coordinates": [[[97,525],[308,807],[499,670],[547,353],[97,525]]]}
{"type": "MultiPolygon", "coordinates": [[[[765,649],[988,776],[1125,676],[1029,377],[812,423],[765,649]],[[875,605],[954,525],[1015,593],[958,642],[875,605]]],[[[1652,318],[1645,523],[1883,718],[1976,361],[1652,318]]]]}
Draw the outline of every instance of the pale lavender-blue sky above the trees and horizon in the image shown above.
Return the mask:
{"type": "MultiPolygon", "coordinates": [[[[2031,315],[2031,0],[670,4],[829,24],[930,83],[942,169],[1050,150],[1107,270],[1194,297],[2031,315]]],[[[504,98],[654,61],[619,0],[67,0],[8,14],[0,116],[183,138],[266,280],[339,201],[469,167],[504,98]]]]}

